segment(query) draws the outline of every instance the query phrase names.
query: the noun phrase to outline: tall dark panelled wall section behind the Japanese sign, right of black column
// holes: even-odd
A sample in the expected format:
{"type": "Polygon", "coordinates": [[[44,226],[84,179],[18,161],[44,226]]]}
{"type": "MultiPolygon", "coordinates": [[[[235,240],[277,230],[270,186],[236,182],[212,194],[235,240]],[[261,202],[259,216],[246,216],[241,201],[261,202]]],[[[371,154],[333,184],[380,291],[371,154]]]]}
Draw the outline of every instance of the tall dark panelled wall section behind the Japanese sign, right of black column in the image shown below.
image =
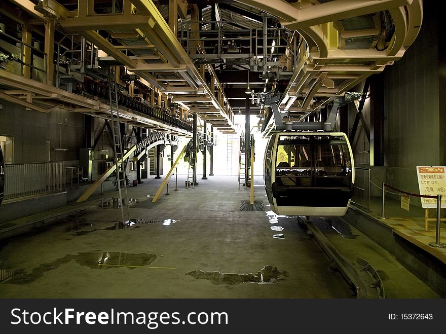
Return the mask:
{"type": "MultiPolygon", "coordinates": [[[[440,126],[437,19],[424,7],[415,43],[384,71],[385,182],[413,193],[419,193],[416,166],[445,164],[440,161],[445,130],[440,126]]],[[[421,206],[420,199],[413,202],[421,206]]]]}

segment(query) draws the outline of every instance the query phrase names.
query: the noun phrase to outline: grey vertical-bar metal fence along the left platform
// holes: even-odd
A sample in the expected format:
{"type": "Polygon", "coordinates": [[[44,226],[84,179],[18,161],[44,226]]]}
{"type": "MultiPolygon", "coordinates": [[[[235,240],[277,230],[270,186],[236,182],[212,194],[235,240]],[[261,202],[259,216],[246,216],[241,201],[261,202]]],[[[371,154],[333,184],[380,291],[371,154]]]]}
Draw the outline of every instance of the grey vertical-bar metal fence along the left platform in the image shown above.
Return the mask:
{"type": "Polygon", "coordinates": [[[63,162],[5,165],[5,200],[64,190],[63,162]]]}

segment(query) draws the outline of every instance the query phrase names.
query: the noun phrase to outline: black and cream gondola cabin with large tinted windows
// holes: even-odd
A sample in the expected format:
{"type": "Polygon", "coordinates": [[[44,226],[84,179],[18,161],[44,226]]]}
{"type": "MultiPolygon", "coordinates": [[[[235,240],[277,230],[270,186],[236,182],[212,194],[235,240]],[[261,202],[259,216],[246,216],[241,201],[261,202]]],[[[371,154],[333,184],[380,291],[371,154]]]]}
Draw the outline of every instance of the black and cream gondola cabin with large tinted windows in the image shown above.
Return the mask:
{"type": "Polygon", "coordinates": [[[271,135],[264,179],[272,210],[280,215],[342,216],[353,196],[355,169],[343,132],[271,135]]]}

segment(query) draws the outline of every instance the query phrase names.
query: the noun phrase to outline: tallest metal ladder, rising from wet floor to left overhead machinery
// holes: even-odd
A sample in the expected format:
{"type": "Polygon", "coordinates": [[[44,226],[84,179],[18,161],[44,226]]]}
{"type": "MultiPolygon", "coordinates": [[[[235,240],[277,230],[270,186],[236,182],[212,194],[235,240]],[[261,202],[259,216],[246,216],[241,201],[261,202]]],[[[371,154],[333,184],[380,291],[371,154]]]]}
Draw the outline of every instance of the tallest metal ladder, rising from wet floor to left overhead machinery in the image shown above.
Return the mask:
{"type": "MultiPolygon", "coordinates": [[[[125,163],[123,161],[124,152],[123,146],[121,142],[121,128],[119,121],[119,106],[118,106],[118,85],[116,84],[116,80],[112,81],[112,74],[114,72],[109,69],[108,70],[108,99],[110,102],[110,121],[112,122],[112,136],[114,140],[114,153],[115,153],[115,164],[116,164],[116,183],[118,185],[118,193],[119,200],[118,203],[121,204],[121,216],[122,222],[125,224],[126,219],[124,215],[124,205],[127,206],[127,218],[129,217],[128,210],[128,194],[127,194],[127,178],[125,173],[125,163]],[[115,113],[114,113],[115,112],[115,113]],[[116,115],[115,115],[116,114],[116,115]],[[125,204],[123,203],[122,198],[122,190],[121,190],[121,182],[124,184],[125,190],[125,204]]],[[[118,204],[118,205],[119,205],[118,204]]],[[[128,219],[127,219],[128,220],[128,219]]],[[[119,228],[119,226],[117,226],[119,228]]]]}

